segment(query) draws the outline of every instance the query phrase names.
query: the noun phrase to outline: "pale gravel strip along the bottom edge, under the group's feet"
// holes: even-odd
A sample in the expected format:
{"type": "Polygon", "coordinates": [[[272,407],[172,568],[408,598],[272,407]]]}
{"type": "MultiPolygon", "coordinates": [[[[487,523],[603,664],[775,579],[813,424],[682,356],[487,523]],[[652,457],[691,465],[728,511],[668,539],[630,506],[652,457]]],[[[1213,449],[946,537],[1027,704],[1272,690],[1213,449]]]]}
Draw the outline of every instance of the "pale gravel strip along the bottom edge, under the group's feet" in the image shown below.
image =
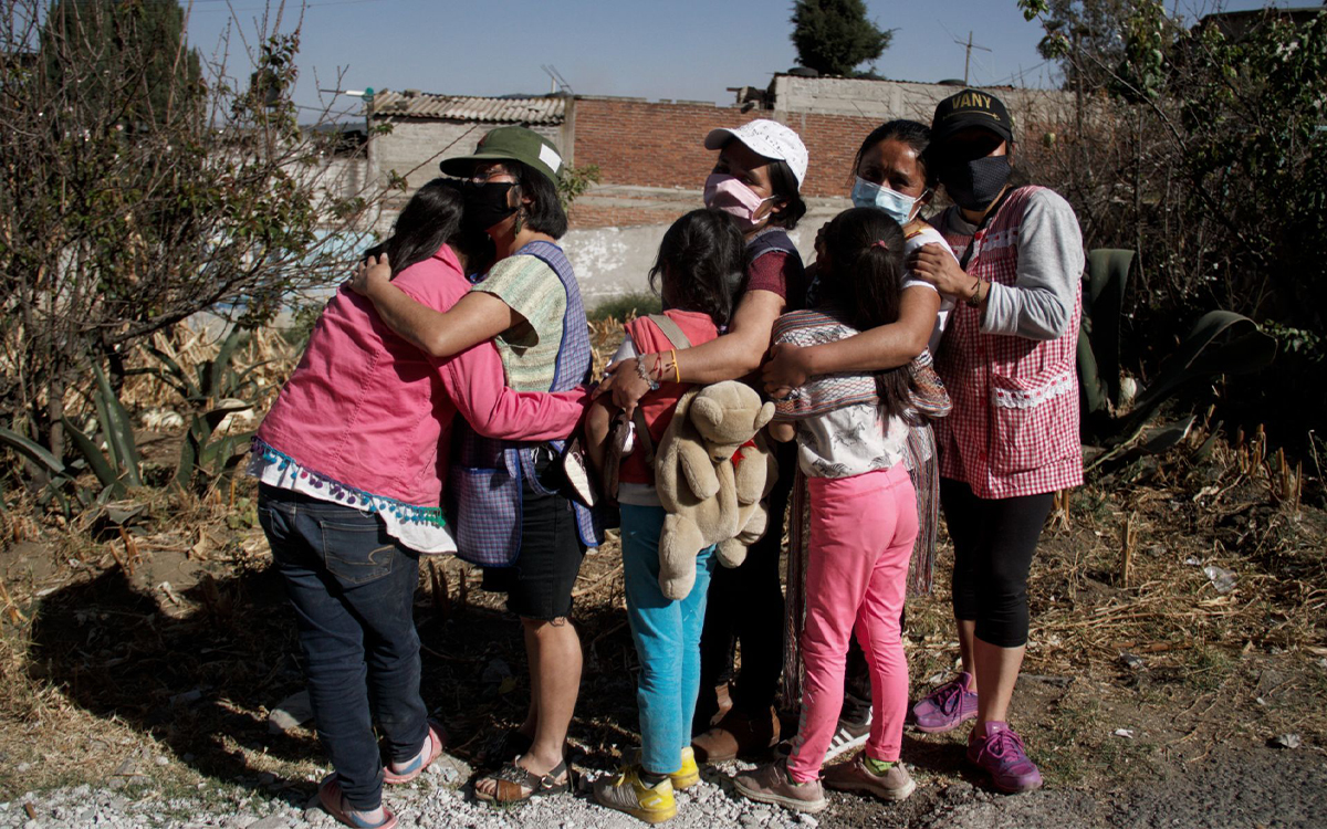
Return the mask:
{"type": "MultiPolygon", "coordinates": [[[[1327,761],[1322,752],[1287,755],[1245,748],[1172,769],[1169,779],[1120,791],[1044,789],[1003,797],[967,780],[918,788],[908,802],[888,806],[832,795],[829,810],[799,816],[730,793],[722,780],[735,764],[707,769],[705,780],[678,796],[678,829],[738,826],[802,829],[864,826],[882,822],[917,829],[1015,829],[1024,826],[1149,828],[1315,828],[1327,825],[1327,761]]],[[[389,791],[402,826],[467,829],[617,829],[638,821],[610,812],[588,795],[589,772],[577,797],[536,800],[520,808],[495,809],[476,802],[468,788],[456,788],[468,769],[441,763],[419,783],[389,791]]],[[[145,787],[126,791],[88,785],[27,795],[0,804],[0,829],[334,829],[333,821],[307,795],[255,795],[235,789],[183,798],[154,796],[145,787]]]]}

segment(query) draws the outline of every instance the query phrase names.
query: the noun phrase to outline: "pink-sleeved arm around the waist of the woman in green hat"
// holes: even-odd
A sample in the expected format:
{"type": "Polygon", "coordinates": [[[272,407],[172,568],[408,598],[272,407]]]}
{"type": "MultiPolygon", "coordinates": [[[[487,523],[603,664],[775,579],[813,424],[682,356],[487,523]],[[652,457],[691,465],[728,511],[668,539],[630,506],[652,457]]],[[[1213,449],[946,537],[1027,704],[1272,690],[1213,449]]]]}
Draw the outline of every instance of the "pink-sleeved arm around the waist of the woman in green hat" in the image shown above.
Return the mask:
{"type": "Polygon", "coordinates": [[[455,403],[456,411],[486,438],[500,440],[567,438],[576,431],[589,402],[589,390],[584,387],[559,393],[510,389],[506,385],[502,358],[492,342],[482,342],[467,349],[442,361],[438,367],[442,386],[455,403]]]}

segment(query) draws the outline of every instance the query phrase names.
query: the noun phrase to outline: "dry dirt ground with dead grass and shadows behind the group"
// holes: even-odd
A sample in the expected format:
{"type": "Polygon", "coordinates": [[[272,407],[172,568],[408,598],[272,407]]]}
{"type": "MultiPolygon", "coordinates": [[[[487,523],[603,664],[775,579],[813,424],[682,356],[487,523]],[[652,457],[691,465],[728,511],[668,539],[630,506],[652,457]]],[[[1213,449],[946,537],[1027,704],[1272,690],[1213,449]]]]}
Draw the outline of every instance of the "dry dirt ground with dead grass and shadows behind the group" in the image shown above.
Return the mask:
{"type": "MultiPolygon", "coordinates": [[[[1327,516],[1278,497],[1241,451],[1129,462],[1059,503],[1011,716],[1044,791],[1002,797],[962,733],[909,733],[917,795],[836,795],[820,825],[1327,825],[1327,516]]],[[[308,797],[324,771],[312,732],[267,722],[301,675],[252,484],[122,507],[138,512],[4,516],[0,801],[84,783],[308,797]]],[[[914,694],[957,657],[947,541],[937,566],[908,609],[914,694]]],[[[417,597],[426,702],[476,765],[527,700],[518,625],[478,584],[433,560],[417,597]]],[[[610,768],[637,728],[616,542],[587,557],[576,623],[577,763],[610,768]]]]}

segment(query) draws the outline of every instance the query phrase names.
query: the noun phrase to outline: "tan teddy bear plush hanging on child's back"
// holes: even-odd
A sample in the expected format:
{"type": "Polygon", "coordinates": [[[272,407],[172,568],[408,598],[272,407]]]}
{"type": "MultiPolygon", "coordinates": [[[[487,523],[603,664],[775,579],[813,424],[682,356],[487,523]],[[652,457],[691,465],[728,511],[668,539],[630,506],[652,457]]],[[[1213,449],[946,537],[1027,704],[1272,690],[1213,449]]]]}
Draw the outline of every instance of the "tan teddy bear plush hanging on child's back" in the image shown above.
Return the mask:
{"type": "Polygon", "coordinates": [[[774,403],[727,381],[682,395],[654,455],[654,485],[667,512],[660,535],[660,588],[686,598],[695,557],[718,544],[719,562],[736,566],[768,524],[760,503],[778,467],[760,430],[774,403]]]}

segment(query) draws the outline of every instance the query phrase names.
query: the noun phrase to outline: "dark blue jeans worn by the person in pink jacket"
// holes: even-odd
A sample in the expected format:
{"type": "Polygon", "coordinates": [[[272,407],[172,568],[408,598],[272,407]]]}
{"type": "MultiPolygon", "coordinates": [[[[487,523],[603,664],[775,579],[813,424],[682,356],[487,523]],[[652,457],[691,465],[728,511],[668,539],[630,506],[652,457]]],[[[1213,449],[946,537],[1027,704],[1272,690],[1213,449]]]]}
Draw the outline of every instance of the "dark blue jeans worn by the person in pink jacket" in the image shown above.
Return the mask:
{"type": "Polygon", "coordinates": [[[257,515],[295,606],[318,737],[346,801],[376,809],[374,715],[394,761],[429,736],[413,613],[419,557],[353,507],[263,484],[257,515]]]}

